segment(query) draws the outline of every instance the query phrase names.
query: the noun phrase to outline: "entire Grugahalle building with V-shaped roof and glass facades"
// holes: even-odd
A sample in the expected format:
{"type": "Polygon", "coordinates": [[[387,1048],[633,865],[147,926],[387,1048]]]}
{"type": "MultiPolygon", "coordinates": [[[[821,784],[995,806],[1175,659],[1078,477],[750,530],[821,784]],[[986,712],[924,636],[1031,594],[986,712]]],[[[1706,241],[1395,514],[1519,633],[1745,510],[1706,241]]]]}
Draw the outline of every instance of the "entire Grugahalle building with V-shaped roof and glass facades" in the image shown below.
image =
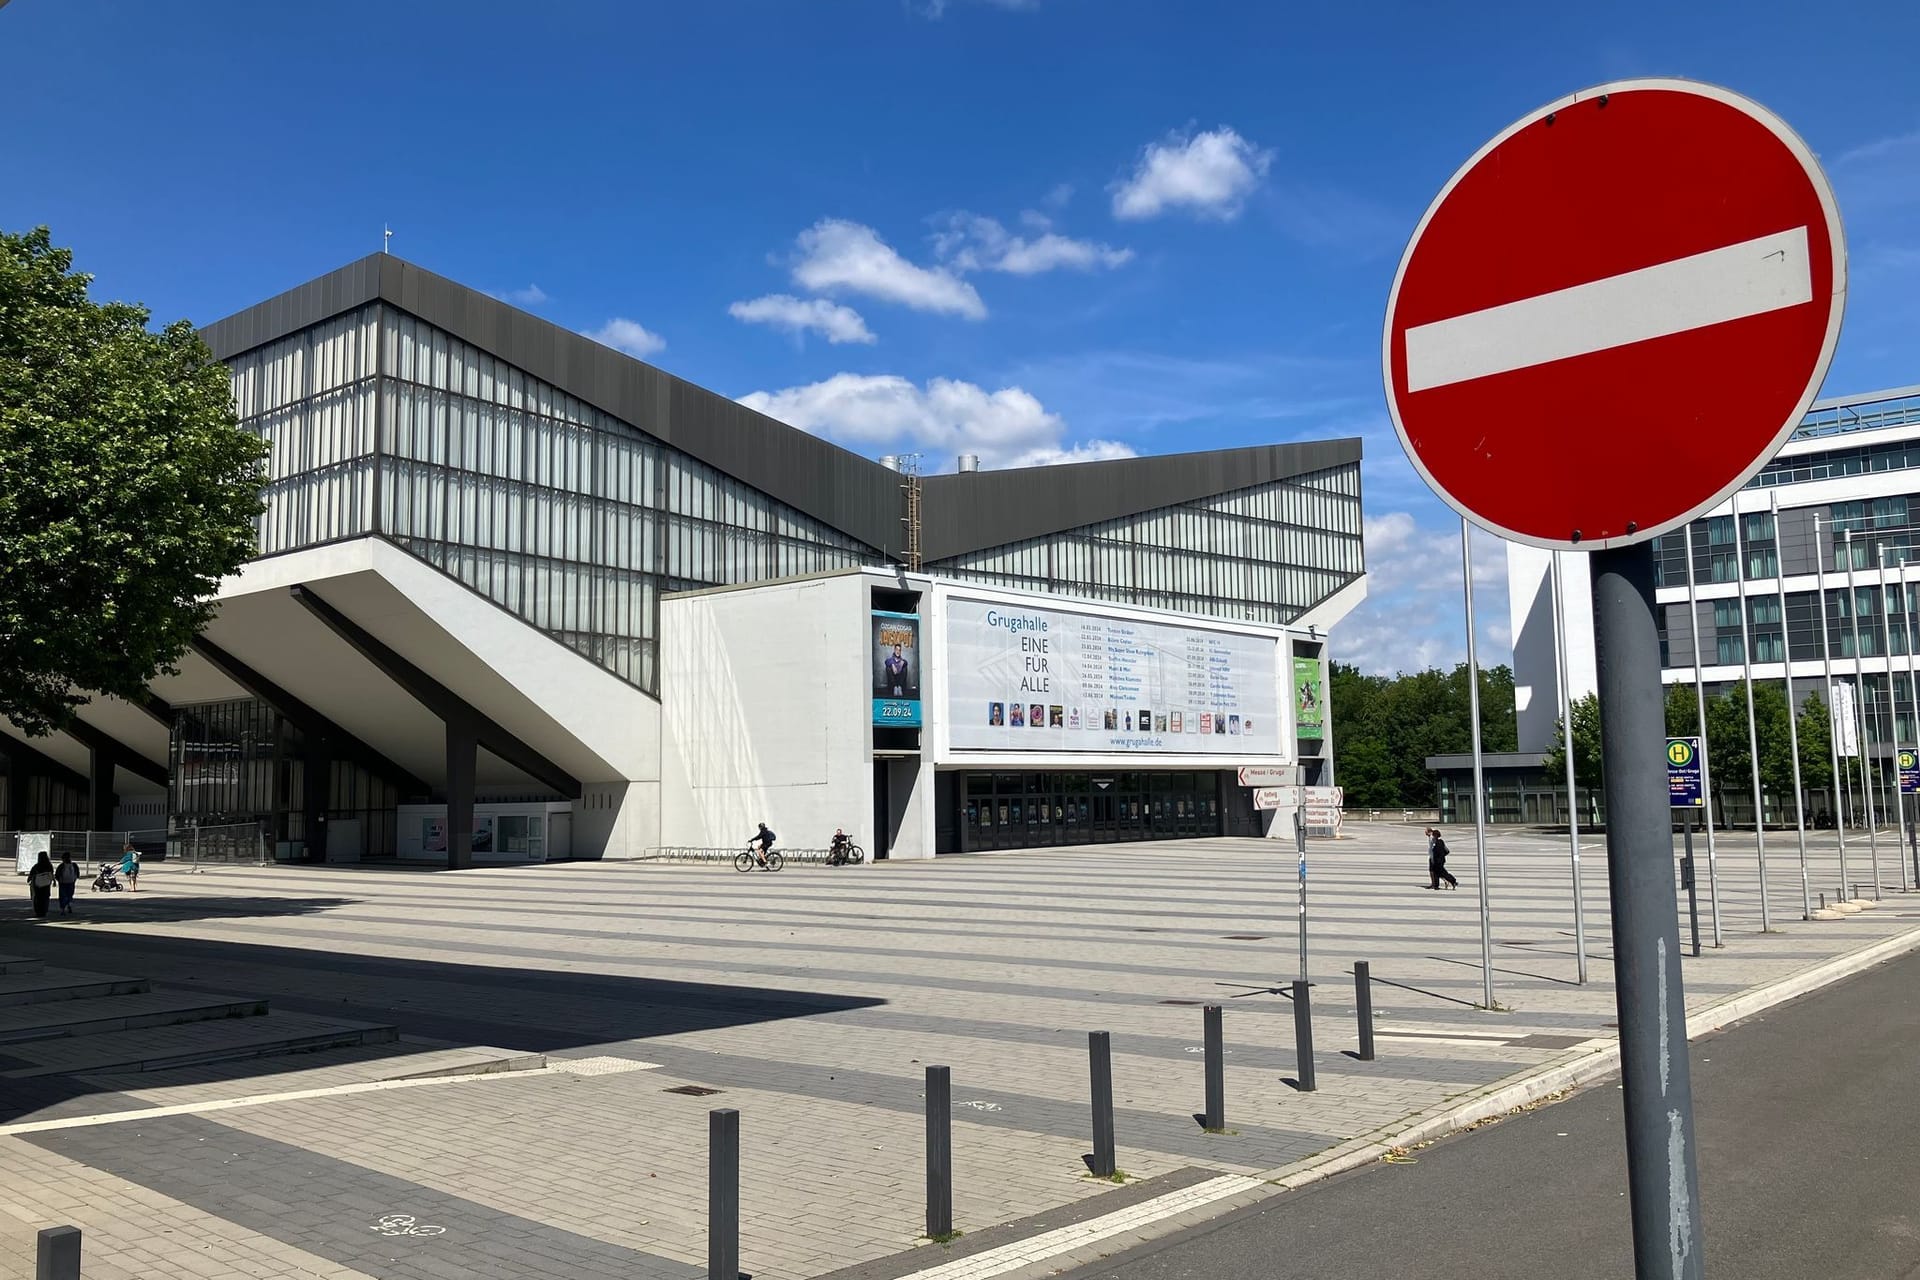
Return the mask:
{"type": "Polygon", "coordinates": [[[204,332],[259,557],[140,704],[6,725],[0,829],[906,858],[1256,833],[1240,768],[1332,781],[1357,439],[910,480],[384,253],[204,332]]]}

